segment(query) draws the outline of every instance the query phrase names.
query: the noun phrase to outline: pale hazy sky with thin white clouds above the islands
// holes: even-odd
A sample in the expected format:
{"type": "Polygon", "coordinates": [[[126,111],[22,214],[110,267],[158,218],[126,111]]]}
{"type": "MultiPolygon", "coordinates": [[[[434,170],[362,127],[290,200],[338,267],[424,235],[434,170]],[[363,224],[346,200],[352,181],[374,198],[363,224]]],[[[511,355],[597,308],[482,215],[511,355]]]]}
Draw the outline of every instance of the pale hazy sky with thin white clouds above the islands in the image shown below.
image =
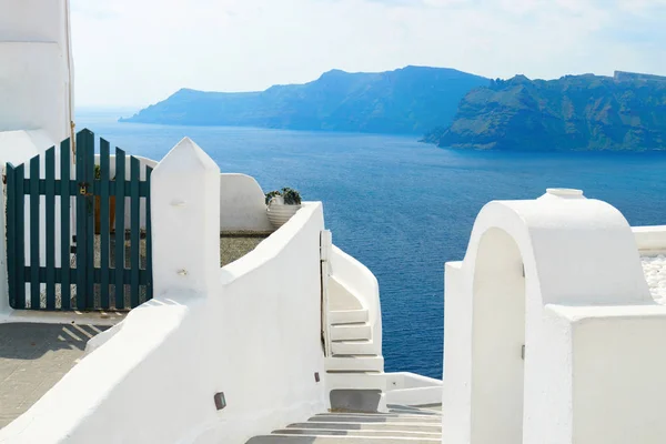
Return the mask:
{"type": "Polygon", "coordinates": [[[263,90],[333,68],[666,75],[666,0],[70,0],[78,105],[263,90]]]}

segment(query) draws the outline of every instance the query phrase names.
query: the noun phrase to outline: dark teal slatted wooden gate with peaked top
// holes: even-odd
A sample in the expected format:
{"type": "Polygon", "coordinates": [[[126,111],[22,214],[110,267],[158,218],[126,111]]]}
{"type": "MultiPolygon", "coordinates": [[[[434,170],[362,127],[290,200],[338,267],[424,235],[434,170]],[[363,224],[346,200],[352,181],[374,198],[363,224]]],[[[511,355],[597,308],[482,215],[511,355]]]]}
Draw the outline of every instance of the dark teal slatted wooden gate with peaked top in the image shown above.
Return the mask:
{"type": "Polygon", "coordinates": [[[109,142],[100,139],[99,164],[94,143],[91,131],[77,134],[73,165],[69,139],[60,150],[7,164],[13,309],[125,310],[152,297],[152,169],[129,157],[125,171],[128,157],[117,148],[111,176],[109,142]]]}

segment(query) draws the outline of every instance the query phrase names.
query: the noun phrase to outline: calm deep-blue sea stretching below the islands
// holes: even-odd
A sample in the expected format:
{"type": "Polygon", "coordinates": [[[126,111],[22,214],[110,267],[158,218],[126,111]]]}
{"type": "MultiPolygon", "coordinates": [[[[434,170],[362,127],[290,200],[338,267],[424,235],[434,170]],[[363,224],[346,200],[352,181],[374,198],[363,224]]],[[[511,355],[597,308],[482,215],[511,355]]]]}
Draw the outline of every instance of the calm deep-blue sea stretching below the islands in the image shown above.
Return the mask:
{"type": "Polygon", "coordinates": [[[155,160],[189,135],[223,172],[323,201],[335,244],[380,281],[386,371],[442,376],[444,262],[463,258],[486,202],[578,188],[617,206],[633,225],[666,223],[666,154],[461,152],[404,137],[121,124],[114,118],[89,113],[77,123],[155,160]]]}

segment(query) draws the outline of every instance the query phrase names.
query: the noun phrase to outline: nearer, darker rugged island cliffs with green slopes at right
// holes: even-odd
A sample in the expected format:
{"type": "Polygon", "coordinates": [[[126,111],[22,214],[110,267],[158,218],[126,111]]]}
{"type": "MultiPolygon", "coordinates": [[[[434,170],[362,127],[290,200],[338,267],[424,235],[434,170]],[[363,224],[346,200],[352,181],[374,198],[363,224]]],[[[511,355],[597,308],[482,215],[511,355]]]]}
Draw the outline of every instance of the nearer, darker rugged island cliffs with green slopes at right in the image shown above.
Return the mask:
{"type": "Polygon", "coordinates": [[[470,91],[451,123],[424,138],[496,150],[666,150],[666,78],[616,72],[492,81],[470,91]]]}

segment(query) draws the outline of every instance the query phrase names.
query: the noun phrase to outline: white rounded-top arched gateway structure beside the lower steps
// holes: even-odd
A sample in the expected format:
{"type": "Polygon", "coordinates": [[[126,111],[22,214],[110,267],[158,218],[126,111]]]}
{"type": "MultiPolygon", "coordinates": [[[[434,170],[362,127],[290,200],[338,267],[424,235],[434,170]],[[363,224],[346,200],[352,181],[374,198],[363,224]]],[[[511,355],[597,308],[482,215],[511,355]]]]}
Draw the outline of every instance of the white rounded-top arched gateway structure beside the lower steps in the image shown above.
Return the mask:
{"type": "Polygon", "coordinates": [[[639,376],[666,372],[666,309],[615,208],[576,190],[488,203],[445,294],[443,442],[666,438],[666,384],[639,376]]]}

